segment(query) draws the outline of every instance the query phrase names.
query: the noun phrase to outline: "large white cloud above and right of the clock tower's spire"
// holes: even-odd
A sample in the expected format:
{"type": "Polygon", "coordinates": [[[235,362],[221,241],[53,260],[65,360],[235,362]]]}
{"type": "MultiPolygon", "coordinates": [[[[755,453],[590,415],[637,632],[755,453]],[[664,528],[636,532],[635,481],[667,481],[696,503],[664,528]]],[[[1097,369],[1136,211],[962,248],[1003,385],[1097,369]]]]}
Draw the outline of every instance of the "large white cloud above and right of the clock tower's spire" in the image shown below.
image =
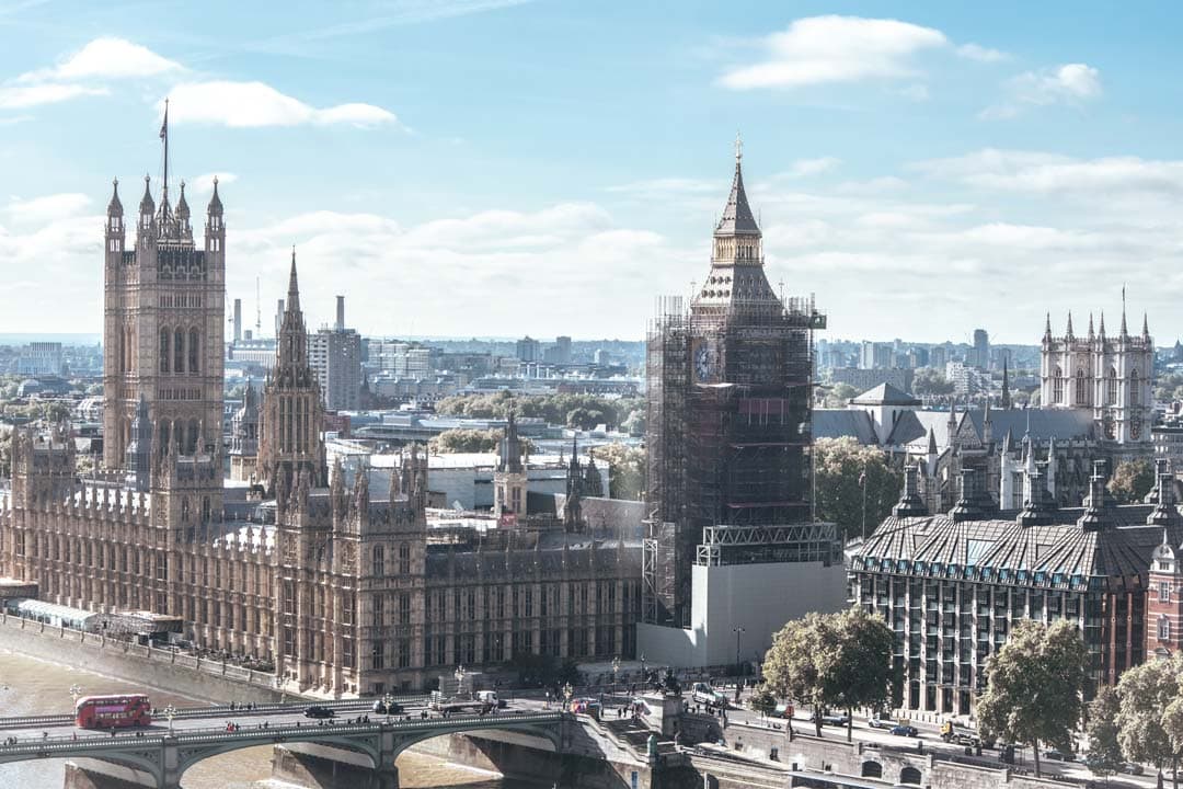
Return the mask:
{"type": "Polygon", "coordinates": [[[750,90],[911,77],[912,56],[948,43],[938,30],[894,19],[810,17],[768,37],[763,62],[733,69],[720,83],[750,90]]]}

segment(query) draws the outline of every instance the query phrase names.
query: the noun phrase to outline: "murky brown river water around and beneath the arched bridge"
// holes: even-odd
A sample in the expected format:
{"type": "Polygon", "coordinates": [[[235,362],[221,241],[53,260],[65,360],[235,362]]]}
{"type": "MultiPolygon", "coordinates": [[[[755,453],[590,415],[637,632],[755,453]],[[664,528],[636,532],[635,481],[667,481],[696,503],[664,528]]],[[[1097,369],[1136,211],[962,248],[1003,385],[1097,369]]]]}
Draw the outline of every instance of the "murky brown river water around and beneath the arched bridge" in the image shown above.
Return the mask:
{"type": "MultiPolygon", "coordinates": [[[[85,694],[147,691],[156,707],[168,704],[199,706],[200,699],[143,688],[99,674],[0,651],[0,717],[70,712],[70,686],[85,694]]],[[[439,758],[406,752],[399,756],[399,783],[403,789],[511,789],[489,772],[448,764],[439,758]]],[[[63,759],[0,764],[0,787],[59,789],[63,759]]],[[[271,781],[271,746],[248,748],[199,762],[181,780],[185,789],[280,789],[271,781]]],[[[537,784],[541,788],[542,784],[537,784]]],[[[515,781],[512,789],[534,789],[515,781]]]]}

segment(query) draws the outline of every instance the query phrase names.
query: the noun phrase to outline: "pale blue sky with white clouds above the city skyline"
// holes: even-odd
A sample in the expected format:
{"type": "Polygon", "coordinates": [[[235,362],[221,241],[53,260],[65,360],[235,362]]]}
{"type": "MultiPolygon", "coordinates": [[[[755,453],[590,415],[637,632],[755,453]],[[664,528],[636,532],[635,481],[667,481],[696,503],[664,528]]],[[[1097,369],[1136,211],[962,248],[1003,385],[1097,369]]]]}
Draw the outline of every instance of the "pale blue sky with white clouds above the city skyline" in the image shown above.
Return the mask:
{"type": "MultiPolygon", "coordinates": [[[[102,222],[226,207],[263,325],[641,338],[743,138],[769,280],[830,338],[1183,334],[1183,6],[0,0],[0,331],[98,332],[102,222]]],[[[264,334],[269,334],[265,329],[264,334]]]]}

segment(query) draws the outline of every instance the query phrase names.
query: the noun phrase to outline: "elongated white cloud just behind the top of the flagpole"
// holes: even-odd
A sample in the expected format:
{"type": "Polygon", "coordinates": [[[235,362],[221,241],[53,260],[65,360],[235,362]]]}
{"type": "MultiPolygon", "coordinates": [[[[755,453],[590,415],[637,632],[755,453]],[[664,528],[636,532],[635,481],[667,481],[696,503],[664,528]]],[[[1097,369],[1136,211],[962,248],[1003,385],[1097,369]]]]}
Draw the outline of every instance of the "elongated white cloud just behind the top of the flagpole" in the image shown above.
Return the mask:
{"type": "Polygon", "coordinates": [[[373,104],[316,108],[261,82],[182,83],[169,93],[169,119],[219,123],[231,128],[327,125],[399,125],[389,110],[373,104]]]}

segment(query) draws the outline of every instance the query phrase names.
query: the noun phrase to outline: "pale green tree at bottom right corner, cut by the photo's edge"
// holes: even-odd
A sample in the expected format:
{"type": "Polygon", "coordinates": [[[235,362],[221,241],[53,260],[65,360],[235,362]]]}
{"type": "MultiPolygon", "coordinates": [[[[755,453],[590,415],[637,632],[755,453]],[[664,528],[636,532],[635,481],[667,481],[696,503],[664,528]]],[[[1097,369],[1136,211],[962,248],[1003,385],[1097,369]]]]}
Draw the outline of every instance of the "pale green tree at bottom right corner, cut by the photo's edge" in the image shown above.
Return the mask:
{"type": "MultiPolygon", "coordinates": [[[[1177,716],[1172,707],[1179,694],[1179,673],[1183,659],[1151,660],[1127,670],[1117,685],[1120,707],[1117,714],[1117,741],[1121,752],[1132,762],[1149,762],[1162,772],[1163,765],[1175,762],[1181,752],[1171,741],[1178,733],[1177,716]],[[1169,720],[1171,731],[1164,723],[1169,720]]],[[[1177,705],[1176,705],[1177,709],[1177,705]]],[[[1176,737],[1176,741],[1183,738],[1176,737]]],[[[1183,744],[1183,742],[1179,742],[1183,744]]]]}

